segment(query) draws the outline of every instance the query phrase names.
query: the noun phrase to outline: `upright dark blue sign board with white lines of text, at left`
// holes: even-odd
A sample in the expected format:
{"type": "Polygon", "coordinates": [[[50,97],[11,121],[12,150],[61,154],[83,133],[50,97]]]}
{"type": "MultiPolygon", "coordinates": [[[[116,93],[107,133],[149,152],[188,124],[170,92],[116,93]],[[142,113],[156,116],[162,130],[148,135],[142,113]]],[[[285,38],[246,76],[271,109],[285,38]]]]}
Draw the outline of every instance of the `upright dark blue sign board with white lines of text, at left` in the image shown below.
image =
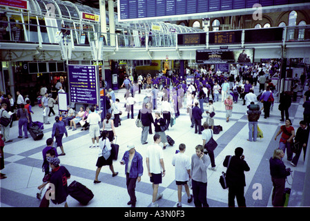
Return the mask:
{"type": "Polygon", "coordinates": [[[69,65],[71,102],[97,104],[97,72],[93,65],[69,65]]]}

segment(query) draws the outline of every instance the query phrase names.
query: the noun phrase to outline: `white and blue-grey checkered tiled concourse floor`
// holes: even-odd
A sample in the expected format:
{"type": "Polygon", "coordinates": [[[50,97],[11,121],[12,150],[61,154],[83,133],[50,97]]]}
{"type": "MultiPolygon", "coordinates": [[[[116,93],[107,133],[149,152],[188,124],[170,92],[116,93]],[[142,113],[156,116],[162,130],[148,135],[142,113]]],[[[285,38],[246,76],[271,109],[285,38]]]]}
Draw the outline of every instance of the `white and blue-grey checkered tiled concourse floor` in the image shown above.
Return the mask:
{"type": "MultiPolygon", "coordinates": [[[[307,89],[307,88],[306,88],[307,89]]],[[[115,95],[124,104],[124,89],[115,91],[115,95]]],[[[258,88],[255,88],[255,93],[258,94],[258,88]]],[[[145,91],[136,95],[138,103],[135,104],[134,112],[137,117],[137,111],[142,104],[145,97],[145,91]]],[[[277,99],[276,99],[277,101],[277,99]]],[[[246,172],[246,187],[245,198],[246,206],[271,206],[271,177],[269,173],[269,158],[273,150],[278,147],[278,140],[275,141],[275,133],[283,124],[280,122],[280,111],[278,111],[278,103],[275,102],[271,117],[264,119],[260,117],[259,127],[264,133],[262,139],[258,142],[246,141],[248,137],[249,127],[245,117],[246,106],[242,106],[242,101],[233,105],[233,115],[230,122],[226,122],[226,113],[224,104],[222,102],[215,102],[215,125],[221,125],[223,131],[220,134],[214,135],[215,140],[219,146],[215,149],[215,164],[217,171],[207,171],[208,175],[208,189],[207,199],[209,206],[227,206],[228,191],[223,190],[219,184],[219,177],[222,171],[226,171],[222,162],[226,155],[233,155],[236,147],[244,148],[245,160],[249,164],[251,170],[246,172]],[[262,199],[253,199],[253,193],[257,189],[257,185],[262,186],[262,199]]],[[[55,110],[57,106],[55,106],[55,110]]],[[[35,114],[32,115],[34,121],[42,122],[42,110],[38,106],[33,108],[35,114]]],[[[91,140],[88,131],[68,131],[68,137],[64,137],[65,156],[59,157],[61,165],[66,166],[71,173],[71,178],[68,184],[73,180],[77,180],[86,185],[93,191],[95,197],[87,206],[90,207],[126,207],[129,200],[126,190],[126,176],[124,173],[124,166],[119,164],[124,152],[126,151],[126,144],[133,142],[136,145],[136,151],[144,157],[144,175],[141,182],[137,183],[137,207],[147,207],[151,204],[152,199],[152,185],[149,181],[146,170],[146,145],[153,142],[153,135],[148,135],[148,144],[142,145],[140,142],[141,128],[135,126],[135,119],[126,119],[126,112],[123,108],[122,126],[116,128],[117,144],[119,144],[119,157],[113,162],[115,171],[119,172],[117,177],[112,177],[108,166],[101,169],[99,175],[100,184],[93,184],[95,178],[95,164],[97,162],[98,149],[89,148],[91,140]]],[[[298,102],[294,102],[289,109],[290,118],[293,126],[297,129],[299,122],[302,119],[302,101],[298,98],[298,102]]],[[[195,146],[202,144],[201,135],[195,134],[194,129],[191,128],[191,122],[186,113],[186,108],[180,110],[180,117],[177,118],[175,126],[166,131],[175,140],[174,146],[167,146],[164,150],[164,164],[166,167],[166,176],[163,178],[162,184],[159,186],[159,192],[164,193],[163,198],[158,200],[160,207],[173,207],[177,202],[177,186],[175,185],[175,171],[171,160],[175,154],[175,150],[180,143],[186,144],[186,154],[191,156],[195,153],[195,146]]],[[[204,119],[206,114],[204,113],[204,119]]],[[[50,117],[51,123],[55,122],[55,117],[50,117]]],[[[203,121],[204,122],[204,121],[203,121]]],[[[42,155],[41,151],[46,146],[46,139],[50,137],[52,124],[44,125],[44,137],[42,140],[34,141],[32,138],[20,139],[18,136],[17,122],[13,123],[10,130],[10,137],[13,142],[6,144],[4,148],[5,153],[5,169],[1,172],[6,173],[7,178],[1,180],[1,207],[37,207],[40,200],[36,198],[38,192],[37,186],[41,184],[43,172],[41,170],[42,155]]],[[[154,131],[154,128],[153,128],[154,131]]],[[[58,149],[60,153],[60,150],[58,149]]],[[[298,166],[293,168],[293,171],[302,171],[304,162],[303,156],[300,156],[298,166]]],[[[208,157],[209,160],[209,157],[208,157]]],[[[286,157],[283,159],[284,163],[292,167],[287,161],[286,157]]],[[[292,177],[288,179],[291,184],[292,177]]],[[[289,186],[289,184],[286,184],[289,186]]],[[[254,194],[255,195],[255,194],[254,194]]],[[[81,206],[77,200],[68,196],[68,205],[70,207],[81,206]]],[[[184,207],[194,206],[187,203],[186,194],[182,199],[184,207]]]]}

